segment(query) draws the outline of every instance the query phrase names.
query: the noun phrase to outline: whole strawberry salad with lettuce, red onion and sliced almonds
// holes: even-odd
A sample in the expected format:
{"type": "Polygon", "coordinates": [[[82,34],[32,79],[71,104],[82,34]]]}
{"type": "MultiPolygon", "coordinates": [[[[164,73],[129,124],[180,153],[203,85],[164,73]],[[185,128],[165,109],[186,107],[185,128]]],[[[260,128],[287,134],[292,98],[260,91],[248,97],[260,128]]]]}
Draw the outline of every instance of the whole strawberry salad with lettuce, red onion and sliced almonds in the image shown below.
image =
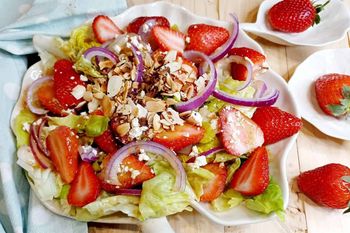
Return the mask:
{"type": "Polygon", "coordinates": [[[232,18],[232,32],[181,32],[162,16],[120,29],[99,15],[68,40],[35,37],[42,75],[14,131],[40,200],[84,221],[167,216],[193,200],[281,214],[266,146],[302,124],[272,106],[279,91],[256,79],[266,58],[234,47],[232,18]]]}

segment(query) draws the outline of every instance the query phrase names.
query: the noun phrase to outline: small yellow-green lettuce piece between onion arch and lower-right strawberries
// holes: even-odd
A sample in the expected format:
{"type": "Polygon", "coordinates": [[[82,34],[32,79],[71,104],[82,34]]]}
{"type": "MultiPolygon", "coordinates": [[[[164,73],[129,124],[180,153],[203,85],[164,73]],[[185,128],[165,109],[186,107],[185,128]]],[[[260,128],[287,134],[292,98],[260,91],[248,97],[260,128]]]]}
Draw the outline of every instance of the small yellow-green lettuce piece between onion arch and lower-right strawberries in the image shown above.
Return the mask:
{"type": "Polygon", "coordinates": [[[190,183],[192,190],[196,196],[196,199],[199,200],[203,195],[203,187],[215,178],[215,175],[204,168],[191,169],[186,167],[187,180],[190,183]]]}

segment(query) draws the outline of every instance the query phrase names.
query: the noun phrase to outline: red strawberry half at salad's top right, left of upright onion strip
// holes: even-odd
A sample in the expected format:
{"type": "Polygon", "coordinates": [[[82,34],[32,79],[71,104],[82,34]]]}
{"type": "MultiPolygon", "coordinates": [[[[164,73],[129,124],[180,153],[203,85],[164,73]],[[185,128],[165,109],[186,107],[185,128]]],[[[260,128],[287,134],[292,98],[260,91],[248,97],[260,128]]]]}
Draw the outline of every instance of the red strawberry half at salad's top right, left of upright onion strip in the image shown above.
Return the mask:
{"type": "Polygon", "coordinates": [[[187,34],[190,43],[186,50],[197,50],[207,55],[212,54],[230,37],[225,28],[207,24],[193,24],[187,29],[187,34]]]}

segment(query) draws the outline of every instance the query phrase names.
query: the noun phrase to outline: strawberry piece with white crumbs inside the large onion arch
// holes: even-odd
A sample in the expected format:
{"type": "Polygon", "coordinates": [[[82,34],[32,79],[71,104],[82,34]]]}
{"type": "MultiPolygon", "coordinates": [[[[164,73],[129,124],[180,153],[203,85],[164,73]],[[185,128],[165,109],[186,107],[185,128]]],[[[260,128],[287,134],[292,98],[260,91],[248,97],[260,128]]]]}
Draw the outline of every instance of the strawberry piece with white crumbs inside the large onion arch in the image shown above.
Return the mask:
{"type": "Polygon", "coordinates": [[[128,171],[118,173],[118,179],[121,183],[120,188],[131,188],[132,186],[141,184],[142,182],[154,177],[152,169],[146,163],[138,160],[135,155],[129,155],[126,157],[121,165],[127,168],[125,170],[128,171]],[[135,173],[134,177],[133,173],[135,173]]]}

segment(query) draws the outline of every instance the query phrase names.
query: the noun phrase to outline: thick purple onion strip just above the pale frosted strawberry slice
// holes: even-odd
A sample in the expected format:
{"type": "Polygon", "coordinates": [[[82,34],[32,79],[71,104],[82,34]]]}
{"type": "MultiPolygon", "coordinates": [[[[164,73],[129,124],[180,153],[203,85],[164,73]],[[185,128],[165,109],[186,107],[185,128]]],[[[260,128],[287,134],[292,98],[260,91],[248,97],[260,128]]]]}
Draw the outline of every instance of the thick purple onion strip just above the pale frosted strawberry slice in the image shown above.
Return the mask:
{"type": "Polygon", "coordinates": [[[279,91],[275,89],[271,91],[270,94],[258,98],[241,98],[229,95],[220,90],[215,90],[213,96],[230,104],[248,107],[262,107],[273,105],[278,99],[279,91]]]}

